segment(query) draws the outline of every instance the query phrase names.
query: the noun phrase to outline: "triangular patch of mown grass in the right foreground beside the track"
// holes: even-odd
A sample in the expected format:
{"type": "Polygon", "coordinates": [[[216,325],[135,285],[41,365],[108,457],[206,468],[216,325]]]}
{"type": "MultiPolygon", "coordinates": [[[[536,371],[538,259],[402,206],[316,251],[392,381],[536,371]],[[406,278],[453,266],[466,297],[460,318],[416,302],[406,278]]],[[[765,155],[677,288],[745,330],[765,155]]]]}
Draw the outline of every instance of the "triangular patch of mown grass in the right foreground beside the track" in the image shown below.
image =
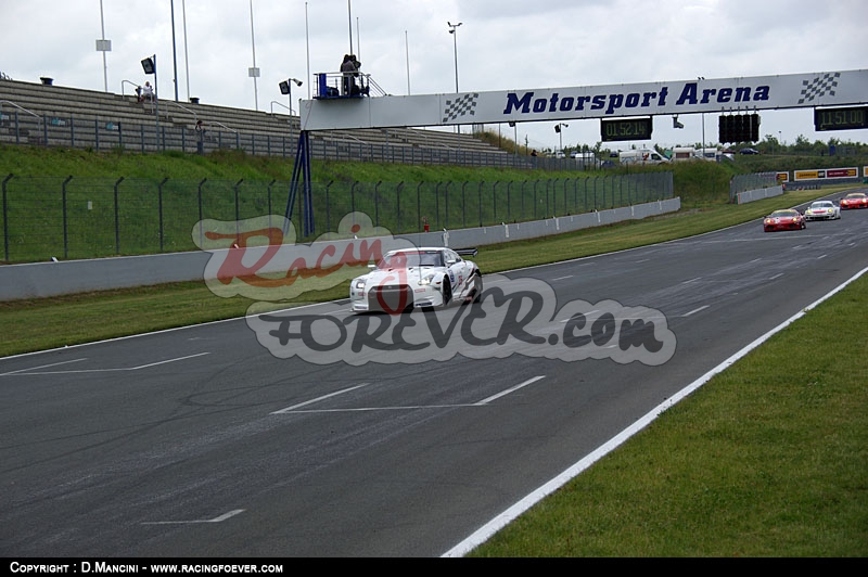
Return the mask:
{"type": "Polygon", "coordinates": [[[866,309],[864,275],[471,555],[868,555],[866,309]]]}

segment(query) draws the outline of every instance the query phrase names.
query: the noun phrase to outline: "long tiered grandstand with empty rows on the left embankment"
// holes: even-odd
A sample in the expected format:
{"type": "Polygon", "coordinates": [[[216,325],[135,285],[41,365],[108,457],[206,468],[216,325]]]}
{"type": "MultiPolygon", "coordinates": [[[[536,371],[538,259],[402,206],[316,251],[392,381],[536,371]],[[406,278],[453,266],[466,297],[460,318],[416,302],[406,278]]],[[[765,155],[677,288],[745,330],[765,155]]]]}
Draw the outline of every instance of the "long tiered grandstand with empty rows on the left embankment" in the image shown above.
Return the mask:
{"type": "MultiPolygon", "coordinates": [[[[139,102],[136,84],[111,93],[0,78],[0,142],[131,152],[242,149],[248,154],[294,156],[299,118],[202,103],[139,102]],[[197,123],[204,131],[196,130],[197,123]]],[[[315,158],[515,166],[526,159],[471,134],[416,128],[310,132],[315,158]]]]}

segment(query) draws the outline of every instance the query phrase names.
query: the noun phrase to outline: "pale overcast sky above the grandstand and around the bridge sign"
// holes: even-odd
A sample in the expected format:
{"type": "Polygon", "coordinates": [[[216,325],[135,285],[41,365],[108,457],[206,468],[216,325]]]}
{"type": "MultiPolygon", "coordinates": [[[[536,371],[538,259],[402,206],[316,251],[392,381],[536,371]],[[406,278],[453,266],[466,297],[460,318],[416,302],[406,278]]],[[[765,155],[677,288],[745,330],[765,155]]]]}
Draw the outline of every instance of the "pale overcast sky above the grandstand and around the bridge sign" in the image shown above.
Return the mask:
{"type": "MultiPolygon", "coordinates": [[[[175,99],[177,78],[179,102],[197,97],[280,114],[289,99],[279,82],[298,78],[293,100],[309,98],[311,75],[336,72],[350,43],[362,72],[397,95],[455,92],[456,54],[462,92],[868,68],[866,0],[0,0],[0,72],[15,80],[49,76],[58,86],[107,84],[129,94],[127,81],[153,80],[141,60],[156,54],[161,99],[175,99]],[[461,23],[455,36],[448,22],[461,23]],[[105,67],[101,38],[112,41],[105,67]]],[[[815,132],[808,108],[761,117],[761,137],[788,143],[799,136],[868,142],[865,130],[815,132]]],[[[702,141],[702,115],[679,120],[681,130],[656,117],[654,139],[633,144],[702,141]]],[[[564,146],[600,140],[598,119],[567,124],[564,146]]],[[[519,140],[556,149],[554,125],[520,124],[519,140]]],[[[704,132],[717,141],[716,115],[705,115],[704,132]]]]}

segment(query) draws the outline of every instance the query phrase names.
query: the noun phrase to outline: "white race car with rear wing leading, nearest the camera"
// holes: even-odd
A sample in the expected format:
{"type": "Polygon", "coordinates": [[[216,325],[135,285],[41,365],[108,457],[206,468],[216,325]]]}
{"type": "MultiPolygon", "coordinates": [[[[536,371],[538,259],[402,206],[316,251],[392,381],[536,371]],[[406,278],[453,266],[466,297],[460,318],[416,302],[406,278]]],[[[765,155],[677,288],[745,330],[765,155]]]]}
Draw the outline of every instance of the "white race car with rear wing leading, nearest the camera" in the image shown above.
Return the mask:
{"type": "Polygon", "coordinates": [[[452,303],[478,303],[482,272],[472,260],[475,248],[444,247],[391,251],[368,274],[353,279],[353,312],[398,313],[413,308],[445,308],[452,303]]]}

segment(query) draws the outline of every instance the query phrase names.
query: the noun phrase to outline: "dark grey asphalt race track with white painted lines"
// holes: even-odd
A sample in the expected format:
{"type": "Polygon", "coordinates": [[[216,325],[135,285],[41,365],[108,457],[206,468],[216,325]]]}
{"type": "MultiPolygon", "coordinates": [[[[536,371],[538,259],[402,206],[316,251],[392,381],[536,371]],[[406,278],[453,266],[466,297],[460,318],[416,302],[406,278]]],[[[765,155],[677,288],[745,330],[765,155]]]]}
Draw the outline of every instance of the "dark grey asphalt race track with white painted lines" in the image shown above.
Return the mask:
{"type": "Polygon", "coordinates": [[[0,359],[0,555],[443,555],[866,266],[868,210],[757,220],[488,275],[433,318],[340,303],[0,359]]]}

